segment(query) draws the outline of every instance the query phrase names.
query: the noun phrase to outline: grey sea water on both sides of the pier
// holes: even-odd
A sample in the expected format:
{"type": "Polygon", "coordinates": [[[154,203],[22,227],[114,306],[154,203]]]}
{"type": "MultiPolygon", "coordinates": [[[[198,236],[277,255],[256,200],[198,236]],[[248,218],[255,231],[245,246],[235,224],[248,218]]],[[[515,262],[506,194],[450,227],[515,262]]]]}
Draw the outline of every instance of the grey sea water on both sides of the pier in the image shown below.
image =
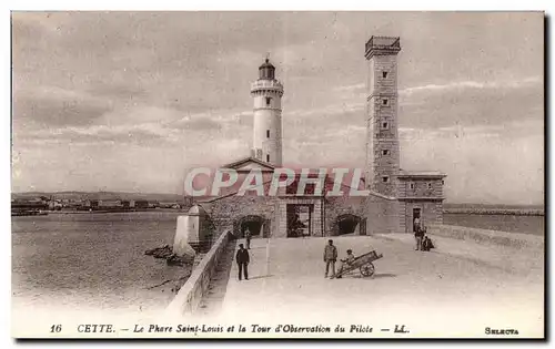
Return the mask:
{"type": "MultiPolygon", "coordinates": [[[[174,294],[153,287],[182,267],[144,255],[173,243],[179,212],[12,217],[12,306],[158,311],[174,294]]],[[[544,235],[543,216],[445,214],[444,224],[544,235]]]]}

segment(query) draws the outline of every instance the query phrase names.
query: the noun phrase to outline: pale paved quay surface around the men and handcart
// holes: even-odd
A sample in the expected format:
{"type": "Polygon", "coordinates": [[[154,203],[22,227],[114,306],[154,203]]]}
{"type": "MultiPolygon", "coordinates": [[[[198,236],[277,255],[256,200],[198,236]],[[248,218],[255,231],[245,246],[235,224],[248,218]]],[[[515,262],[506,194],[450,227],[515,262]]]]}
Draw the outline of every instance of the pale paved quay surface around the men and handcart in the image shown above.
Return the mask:
{"type": "Polygon", "coordinates": [[[355,255],[372,249],[383,254],[374,263],[375,276],[324,278],[327,238],[254,239],[250,280],[238,280],[233,263],[221,312],[210,320],[370,325],[374,331],[406,325],[416,336],[483,336],[486,327],[516,328],[521,336],[543,332],[543,279],[536,273],[416,252],[404,237],[333,239],[340,258],[347,248],[355,255]]]}

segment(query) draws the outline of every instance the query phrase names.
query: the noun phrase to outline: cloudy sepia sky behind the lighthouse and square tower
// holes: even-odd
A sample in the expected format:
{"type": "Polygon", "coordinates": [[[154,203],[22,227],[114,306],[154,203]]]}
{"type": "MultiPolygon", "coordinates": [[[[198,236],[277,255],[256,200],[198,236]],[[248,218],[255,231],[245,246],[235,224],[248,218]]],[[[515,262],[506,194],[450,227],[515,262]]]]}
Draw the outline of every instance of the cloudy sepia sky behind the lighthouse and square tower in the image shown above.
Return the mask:
{"type": "Polygon", "coordinates": [[[284,165],[364,167],[364,44],[401,37],[401,167],[450,203],[542,204],[539,12],[13,12],[12,191],[183,193],[245,157],[283,82],[284,165]]]}

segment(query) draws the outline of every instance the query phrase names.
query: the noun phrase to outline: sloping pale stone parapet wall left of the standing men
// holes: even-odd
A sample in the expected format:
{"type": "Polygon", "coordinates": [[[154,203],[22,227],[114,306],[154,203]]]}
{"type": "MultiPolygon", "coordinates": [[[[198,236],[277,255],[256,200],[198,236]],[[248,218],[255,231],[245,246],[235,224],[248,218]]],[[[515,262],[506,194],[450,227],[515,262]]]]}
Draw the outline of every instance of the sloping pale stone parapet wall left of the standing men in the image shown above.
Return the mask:
{"type": "Polygon", "coordinates": [[[208,291],[210,279],[214,275],[218,263],[221,260],[225,246],[231,238],[231,230],[225,230],[220,235],[209,253],[194,268],[185,285],[181,287],[175,298],[168,306],[168,316],[180,317],[192,314],[199,308],[202,297],[208,291]]]}

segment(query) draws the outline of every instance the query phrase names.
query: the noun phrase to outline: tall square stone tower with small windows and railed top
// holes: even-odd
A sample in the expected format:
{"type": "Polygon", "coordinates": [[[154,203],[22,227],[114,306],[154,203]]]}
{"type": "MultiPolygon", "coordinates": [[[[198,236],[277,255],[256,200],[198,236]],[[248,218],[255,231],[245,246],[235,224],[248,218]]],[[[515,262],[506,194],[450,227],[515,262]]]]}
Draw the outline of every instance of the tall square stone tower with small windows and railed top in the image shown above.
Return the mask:
{"type": "Polygon", "coordinates": [[[372,37],[366,42],[369,64],[366,125],[366,186],[395,196],[400,171],[397,134],[397,53],[400,38],[372,37]]]}

